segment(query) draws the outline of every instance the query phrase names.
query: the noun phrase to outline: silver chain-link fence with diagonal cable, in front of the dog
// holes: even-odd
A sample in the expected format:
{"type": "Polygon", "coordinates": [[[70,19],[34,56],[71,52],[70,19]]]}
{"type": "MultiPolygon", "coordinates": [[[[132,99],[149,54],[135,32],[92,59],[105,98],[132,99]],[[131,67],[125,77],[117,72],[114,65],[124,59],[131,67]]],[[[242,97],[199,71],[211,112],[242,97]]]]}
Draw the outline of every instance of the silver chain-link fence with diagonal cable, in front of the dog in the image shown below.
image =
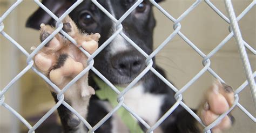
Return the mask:
{"type": "MultiPolygon", "coordinates": [[[[6,38],[7,40],[9,40],[13,45],[15,45],[19,50],[21,50],[21,52],[27,57],[26,63],[28,64],[21,72],[18,73],[18,75],[12,79],[10,81],[10,83],[8,85],[6,85],[4,88],[1,88],[0,91],[0,106],[1,108],[6,108],[9,110],[9,112],[11,112],[12,114],[14,114],[22,123],[24,123],[24,125],[29,129],[28,132],[35,132],[35,130],[39,127],[39,125],[41,125],[53,112],[55,112],[55,110],[60,106],[60,105],[64,105],[66,108],[68,108],[72,113],[74,113],[85,125],[86,127],[89,129],[89,132],[94,132],[95,130],[97,130],[97,128],[100,127],[100,125],[102,125],[104,122],[106,122],[120,107],[124,107],[128,112],[131,113],[131,115],[133,115],[139,122],[141,122],[146,128],[147,128],[147,132],[153,132],[154,129],[156,129],[165,119],[166,117],[168,117],[173,110],[175,110],[179,105],[183,106],[187,112],[189,112],[199,123],[201,123],[205,128],[204,128],[204,132],[211,132],[210,129],[213,128],[215,125],[217,125],[221,119],[224,118],[224,116],[226,116],[229,112],[231,112],[231,110],[237,106],[238,108],[240,108],[242,110],[242,112],[244,112],[254,123],[256,122],[255,117],[248,112],[241,104],[239,104],[239,93],[248,85],[251,88],[251,92],[252,92],[252,99],[254,100],[254,107],[255,107],[255,95],[256,95],[256,89],[255,89],[255,76],[256,76],[256,71],[252,72],[252,69],[250,67],[250,62],[248,60],[247,57],[247,53],[246,53],[246,49],[247,51],[251,51],[253,53],[253,55],[256,54],[255,49],[253,49],[253,47],[250,46],[250,44],[248,44],[245,40],[242,40],[241,38],[241,33],[238,27],[238,21],[241,20],[242,17],[245,16],[245,14],[247,12],[249,12],[253,6],[255,6],[256,1],[252,1],[250,5],[247,6],[246,9],[244,9],[244,11],[242,11],[237,17],[235,17],[234,14],[234,10],[232,7],[232,3],[230,0],[225,0],[225,4],[226,4],[226,9],[227,9],[227,13],[228,13],[228,17],[226,17],[224,15],[223,12],[221,12],[210,0],[198,0],[195,1],[185,12],[183,12],[178,18],[174,18],[170,13],[166,12],[163,8],[161,8],[161,6],[156,3],[153,0],[150,0],[150,2],[156,6],[156,8],[162,12],[168,19],[170,19],[170,21],[172,21],[173,24],[173,29],[174,32],[171,33],[166,40],[164,40],[163,43],[161,43],[159,45],[159,47],[156,48],[156,50],[154,50],[150,55],[146,54],[142,49],[140,49],[140,47],[138,47],[136,45],[136,43],[134,43],[128,36],[126,36],[123,32],[123,26],[122,26],[122,21],[129,16],[129,14],[137,8],[137,6],[143,2],[143,0],[138,0],[136,1],[136,3],[134,3],[131,8],[129,10],[127,10],[122,17],[120,17],[120,19],[116,19],[114,18],[110,12],[108,12],[106,9],[103,8],[102,5],[100,5],[96,0],[92,0],[92,2],[100,9],[102,10],[106,16],[108,16],[112,21],[114,21],[114,23],[116,23],[116,32],[109,38],[107,39],[102,46],[100,46],[97,51],[95,53],[93,53],[92,55],[90,55],[89,53],[87,53],[84,49],[82,49],[81,47],[79,48],[80,50],[83,51],[83,53],[89,57],[87,63],[88,66],[81,72],[79,73],[79,75],[77,75],[75,78],[73,78],[71,80],[71,82],[69,84],[67,84],[62,90],[60,90],[55,84],[53,84],[51,82],[50,79],[48,79],[47,77],[45,77],[41,72],[39,72],[36,68],[33,67],[33,60],[32,58],[38,53],[39,50],[41,50],[44,45],[46,43],[48,43],[53,36],[55,36],[57,33],[62,33],[67,39],[69,39],[72,43],[74,43],[75,45],[77,45],[76,41],[74,39],[71,38],[71,36],[69,36],[67,33],[65,33],[62,28],[63,28],[63,23],[62,20],[68,16],[68,14],[75,9],[81,2],[83,2],[82,0],[78,0],[75,4],[73,4],[62,16],[57,17],[55,16],[55,14],[53,14],[49,9],[47,9],[41,2],[39,2],[38,0],[35,0],[35,3],[40,6],[44,11],[46,11],[53,19],[55,19],[57,21],[56,23],[56,30],[47,38],[45,39],[32,53],[28,53],[28,51],[26,51],[18,42],[16,42],[14,39],[11,38],[11,36],[9,36],[8,34],[6,34],[4,32],[4,23],[3,20],[11,13],[12,10],[14,10],[19,4],[22,3],[21,0],[16,1],[8,10],[6,10],[4,12],[4,14],[1,16],[0,18],[0,33],[2,34],[2,36],[4,36],[4,38],[6,38]],[[181,24],[180,22],[186,17],[188,16],[188,14],[194,10],[195,8],[197,8],[199,3],[205,2],[209,8],[211,8],[214,12],[216,12],[224,21],[226,21],[226,23],[230,24],[231,26],[227,29],[229,29],[230,34],[228,34],[226,36],[226,38],[224,40],[222,40],[217,47],[215,47],[210,53],[208,54],[204,54],[190,39],[188,39],[186,37],[186,35],[184,35],[183,33],[181,33],[180,29],[181,29],[181,24]],[[229,19],[230,18],[230,19],[229,19]],[[93,58],[95,56],[97,56],[100,51],[102,51],[107,45],[109,45],[109,43],[116,38],[117,35],[121,35],[123,36],[123,38],[125,40],[127,40],[128,42],[130,42],[130,44],[136,48],[143,56],[146,57],[146,65],[147,67],[124,89],[124,91],[120,92],[113,84],[111,84],[109,82],[109,80],[107,80],[95,67],[93,67],[93,58]],[[201,69],[196,76],[194,76],[187,84],[185,84],[183,87],[181,88],[176,88],[175,86],[173,86],[167,79],[165,79],[162,75],[160,75],[160,73],[158,71],[156,71],[152,65],[153,65],[153,61],[152,58],[155,57],[159,51],[161,49],[163,49],[168,42],[170,42],[174,36],[179,36],[181,39],[183,39],[188,46],[190,46],[197,54],[199,54],[202,58],[202,63],[203,63],[203,69],[201,69]],[[217,51],[219,51],[227,41],[229,41],[231,38],[235,38],[235,40],[237,40],[237,45],[239,46],[238,49],[240,51],[240,55],[241,55],[241,59],[242,59],[242,63],[244,65],[244,69],[245,69],[245,73],[246,73],[246,77],[247,80],[235,90],[235,101],[233,106],[224,114],[221,114],[217,120],[215,120],[214,122],[212,122],[210,125],[206,126],[203,124],[203,122],[200,120],[199,116],[197,116],[197,114],[195,114],[183,101],[182,101],[182,94],[188,89],[188,87],[190,87],[194,82],[196,82],[196,80],[203,75],[205,72],[209,72],[211,73],[211,75],[217,79],[219,79],[221,82],[224,82],[223,79],[221,79],[220,76],[217,75],[217,73],[215,73],[212,69],[211,69],[211,57],[217,53],[217,51]],[[4,94],[6,92],[8,92],[9,88],[14,85],[17,80],[19,78],[21,78],[24,73],[26,73],[28,70],[32,69],[33,71],[35,71],[39,76],[41,76],[45,82],[47,82],[49,85],[51,85],[56,92],[58,92],[57,95],[57,99],[58,102],[56,103],[55,106],[53,106],[48,113],[46,113],[36,124],[31,125],[28,121],[26,121],[26,119],[24,119],[24,117],[22,115],[20,115],[18,112],[16,112],[15,109],[13,109],[12,107],[10,107],[8,104],[5,103],[5,98],[4,98],[4,94]],[[118,94],[118,105],[116,107],[114,107],[102,120],[100,120],[94,127],[92,127],[90,125],[90,123],[88,123],[82,116],[80,116],[77,111],[75,109],[73,109],[67,102],[64,101],[64,92],[66,90],[69,89],[69,87],[74,84],[80,77],[82,77],[86,72],[88,72],[89,70],[92,70],[93,72],[96,73],[96,75],[98,75],[106,84],[108,84],[112,90],[114,92],[116,92],[118,94]],[[142,78],[148,71],[152,71],[156,76],[158,76],[166,85],[168,85],[174,92],[176,92],[175,94],[175,98],[176,98],[176,103],[168,110],[168,112],[166,112],[153,126],[150,126],[149,124],[147,124],[140,116],[138,116],[136,113],[134,113],[128,106],[126,106],[124,104],[124,95],[127,93],[127,91],[129,91],[139,80],[140,78],[142,78]]],[[[224,1],[223,1],[224,2],[224,1]]],[[[225,83],[225,82],[224,82],[225,83]]]]}

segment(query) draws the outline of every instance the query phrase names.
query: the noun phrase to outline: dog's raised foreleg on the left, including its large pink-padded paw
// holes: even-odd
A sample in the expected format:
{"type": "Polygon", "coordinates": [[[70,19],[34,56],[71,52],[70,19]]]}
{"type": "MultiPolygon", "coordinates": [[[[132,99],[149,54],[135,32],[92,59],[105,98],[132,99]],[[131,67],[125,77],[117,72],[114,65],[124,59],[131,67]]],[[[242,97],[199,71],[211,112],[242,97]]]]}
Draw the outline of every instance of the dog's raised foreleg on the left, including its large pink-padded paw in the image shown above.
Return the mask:
{"type": "MultiPolygon", "coordinates": [[[[66,17],[63,20],[63,30],[68,33],[86,51],[92,54],[98,48],[99,34],[82,34],[78,31],[75,23],[66,17]]],[[[41,41],[44,41],[54,29],[51,26],[41,24],[41,41]]],[[[39,71],[56,84],[60,89],[65,87],[74,77],[87,67],[87,57],[75,45],[73,45],[63,35],[57,34],[51,41],[34,58],[35,66],[39,71]]],[[[66,90],[64,99],[68,102],[81,116],[86,117],[89,99],[95,91],[87,83],[88,73],[82,76],[75,84],[66,90]]],[[[50,87],[53,97],[56,98],[56,91],[50,87]]],[[[82,122],[75,114],[72,114],[64,106],[58,108],[60,119],[62,120],[65,132],[83,131],[82,122]],[[64,112],[63,112],[64,110],[64,112]],[[67,118],[68,116],[68,118],[67,118]]]]}

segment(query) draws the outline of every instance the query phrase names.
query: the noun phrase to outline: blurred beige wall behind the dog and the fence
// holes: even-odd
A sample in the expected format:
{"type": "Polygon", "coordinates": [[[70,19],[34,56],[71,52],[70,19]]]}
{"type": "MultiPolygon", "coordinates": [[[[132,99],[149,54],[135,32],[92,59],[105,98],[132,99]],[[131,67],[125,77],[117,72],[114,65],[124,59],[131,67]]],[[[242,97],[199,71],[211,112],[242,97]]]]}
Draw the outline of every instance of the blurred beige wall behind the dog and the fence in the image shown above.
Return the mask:
{"type": "MultiPolygon", "coordinates": [[[[0,15],[6,11],[13,0],[0,0],[0,15]]],[[[178,18],[194,1],[167,0],[160,5],[174,18],[178,18]]],[[[226,14],[223,0],[213,0],[224,14],[226,14]]],[[[240,14],[252,1],[233,0],[235,13],[240,14]]],[[[25,21],[38,6],[33,1],[23,1],[5,20],[4,31],[14,38],[30,53],[31,46],[39,44],[39,32],[25,28],[25,21]]],[[[244,18],[239,21],[244,40],[254,49],[256,48],[256,10],[255,6],[244,18]]],[[[154,48],[157,48],[173,30],[173,23],[160,11],[154,8],[157,27],[154,31],[154,48]]],[[[205,2],[201,2],[188,16],[181,21],[181,32],[187,36],[205,54],[216,47],[227,35],[228,24],[221,19],[205,2]]],[[[255,71],[256,57],[248,51],[252,69],[255,71]]],[[[176,36],[156,56],[157,64],[164,68],[167,77],[177,88],[183,87],[202,68],[203,59],[186,44],[184,40],[176,36]]],[[[26,58],[16,47],[0,35],[0,90],[6,86],[18,72],[26,66],[26,58]]],[[[217,52],[211,58],[211,68],[234,89],[238,88],[246,80],[240,56],[234,39],[217,52]]],[[[200,103],[203,92],[211,85],[214,78],[206,72],[183,94],[188,106],[196,108],[200,103]]],[[[256,110],[250,94],[250,89],[245,88],[239,94],[239,102],[252,115],[256,116],[256,110]]],[[[51,94],[43,80],[32,70],[25,73],[19,81],[5,94],[5,101],[22,116],[28,118],[31,123],[36,122],[33,117],[43,115],[54,104],[51,94]]],[[[255,123],[241,110],[235,107],[233,114],[236,122],[234,127],[227,132],[255,132],[255,123]]],[[[37,120],[37,119],[36,119],[37,120]]],[[[20,132],[24,125],[13,115],[0,107],[0,132],[20,132]]]]}

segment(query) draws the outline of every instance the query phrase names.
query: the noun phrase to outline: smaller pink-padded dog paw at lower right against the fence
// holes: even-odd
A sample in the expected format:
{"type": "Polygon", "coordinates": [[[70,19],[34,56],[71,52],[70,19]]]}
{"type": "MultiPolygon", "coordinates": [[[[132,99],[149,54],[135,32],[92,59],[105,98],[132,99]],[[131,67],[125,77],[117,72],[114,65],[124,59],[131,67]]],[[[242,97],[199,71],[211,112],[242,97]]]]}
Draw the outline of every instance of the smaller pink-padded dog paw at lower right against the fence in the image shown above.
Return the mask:
{"type": "MultiPolygon", "coordinates": [[[[205,125],[211,124],[217,117],[226,112],[234,102],[233,89],[216,80],[206,92],[205,102],[201,104],[198,115],[205,125]]],[[[214,128],[211,129],[214,133],[222,132],[231,128],[234,122],[234,117],[231,114],[225,116],[224,119],[214,128]]],[[[202,128],[201,128],[202,129],[202,128]]]]}

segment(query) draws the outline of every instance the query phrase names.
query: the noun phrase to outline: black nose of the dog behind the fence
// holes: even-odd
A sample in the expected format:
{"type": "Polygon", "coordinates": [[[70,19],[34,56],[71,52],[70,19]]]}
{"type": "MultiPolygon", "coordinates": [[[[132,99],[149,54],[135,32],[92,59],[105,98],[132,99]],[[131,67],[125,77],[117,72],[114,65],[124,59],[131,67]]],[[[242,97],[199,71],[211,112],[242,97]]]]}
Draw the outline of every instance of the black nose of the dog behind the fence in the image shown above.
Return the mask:
{"type": "Polygon", "coordinates": [[[145,66],[145,57],[138,52],[123,52],[111,58],[112,67],[123,76],[137,76],[145,66]]]}

